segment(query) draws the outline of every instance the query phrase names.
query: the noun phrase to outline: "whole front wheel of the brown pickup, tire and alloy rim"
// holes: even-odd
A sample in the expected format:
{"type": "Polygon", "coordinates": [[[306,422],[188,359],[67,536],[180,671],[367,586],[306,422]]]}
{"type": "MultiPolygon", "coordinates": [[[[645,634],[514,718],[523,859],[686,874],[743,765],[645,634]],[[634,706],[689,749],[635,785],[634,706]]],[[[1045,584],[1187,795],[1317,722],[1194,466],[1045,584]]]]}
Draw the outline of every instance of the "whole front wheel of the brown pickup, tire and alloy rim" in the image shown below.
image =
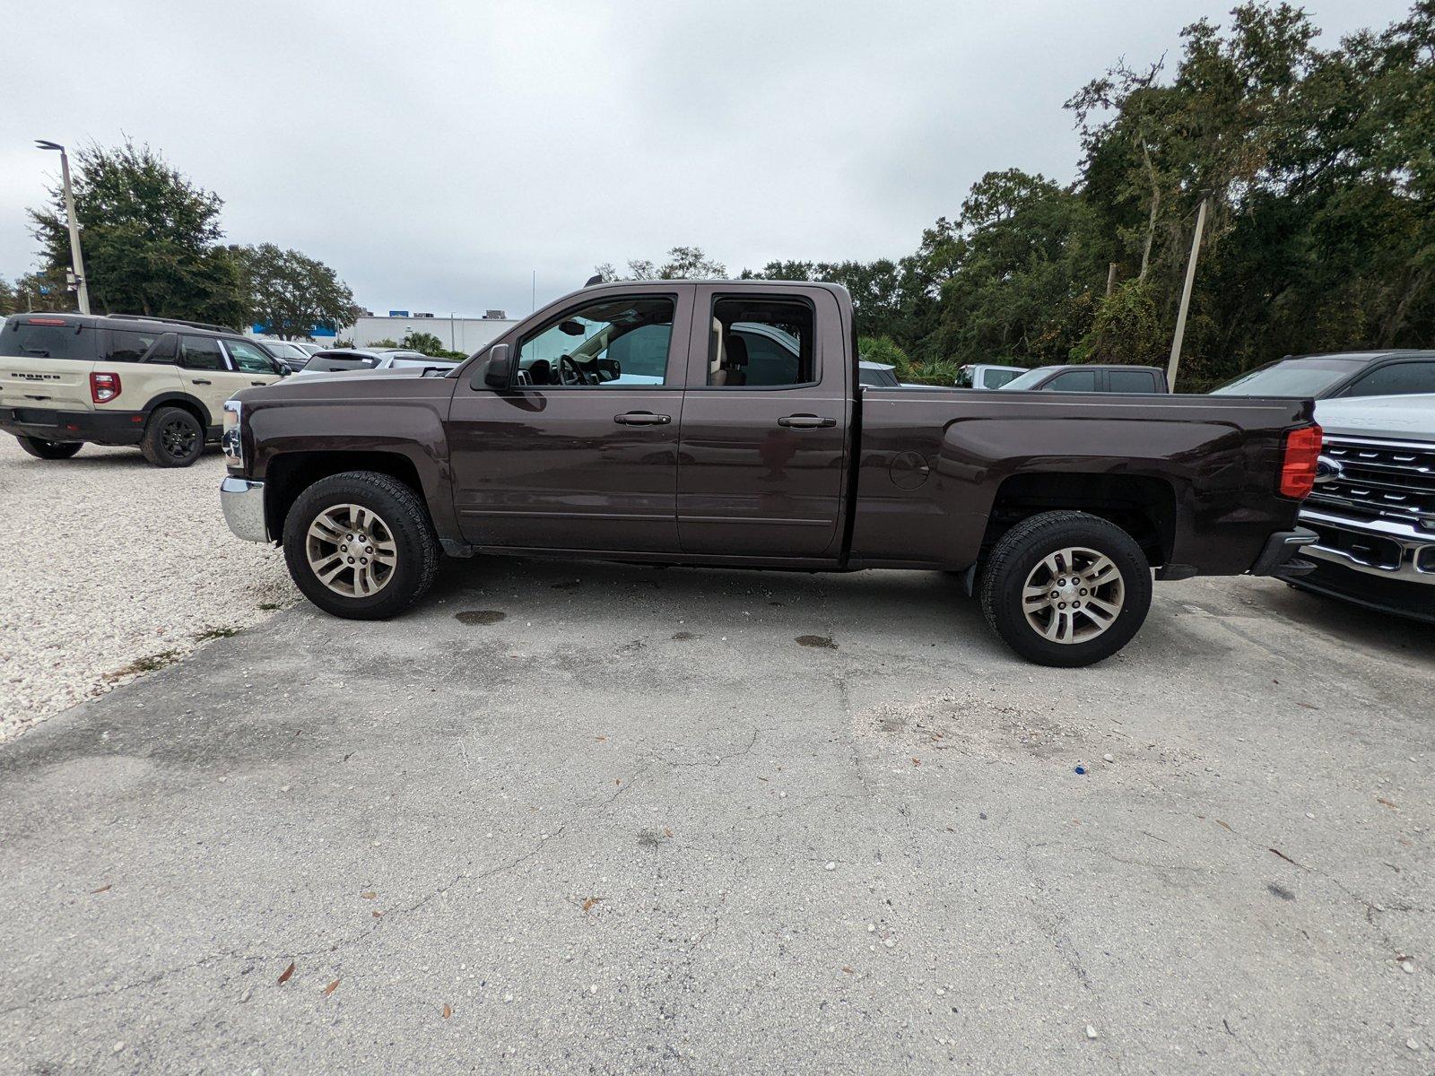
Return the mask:
{"type": "Polygon", "coordinates": [[[390,475],[347,471],[314,482],[288,509],[284,561],[324,613],[386,620],[433,584],[439,544],[413,489],[390,475]]]}

